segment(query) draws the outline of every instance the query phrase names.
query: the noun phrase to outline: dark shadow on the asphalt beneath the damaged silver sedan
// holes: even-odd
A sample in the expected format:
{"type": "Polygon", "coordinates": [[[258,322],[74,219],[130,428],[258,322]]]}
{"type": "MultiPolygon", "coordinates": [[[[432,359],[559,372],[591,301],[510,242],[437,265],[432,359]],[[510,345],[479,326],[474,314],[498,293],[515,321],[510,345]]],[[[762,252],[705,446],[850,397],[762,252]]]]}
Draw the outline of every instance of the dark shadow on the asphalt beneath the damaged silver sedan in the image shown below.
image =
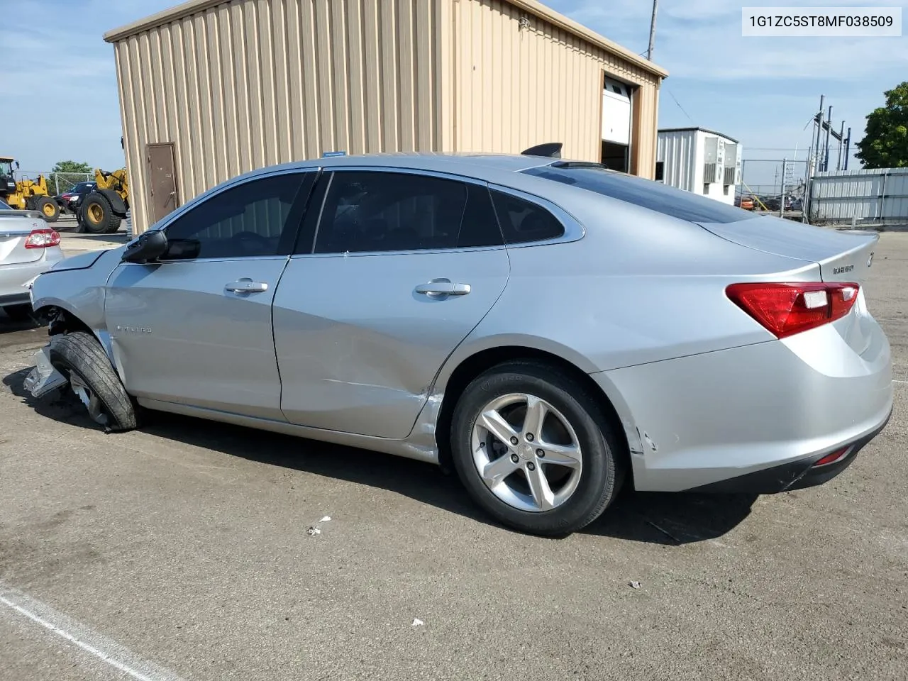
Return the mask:
{"type": "MultiPolygon", "coordinates": [[[[5,377],[4,383],[13,394],[49,419],[97,429],[68,390],[33,398],[23,386],[27,373],[20,370],[5,377]]],[[[156,437],[269,466],[388,489],[477,522],[497,525],[468,498],[456,475],[444,475],[432,464],[175,414],[147,412],[145,416],[142,431],[156,437]]],[[[680,546],[721,537],[747,518],[755,498],[626,490],[582,532],[680,546]]]]}

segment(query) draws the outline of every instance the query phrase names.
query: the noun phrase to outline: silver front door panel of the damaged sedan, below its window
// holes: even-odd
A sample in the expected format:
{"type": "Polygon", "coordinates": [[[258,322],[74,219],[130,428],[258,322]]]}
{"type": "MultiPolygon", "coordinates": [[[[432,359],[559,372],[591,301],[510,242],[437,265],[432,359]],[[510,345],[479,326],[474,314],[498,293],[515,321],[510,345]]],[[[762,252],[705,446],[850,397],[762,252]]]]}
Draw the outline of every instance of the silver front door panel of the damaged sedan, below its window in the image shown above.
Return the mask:
{"type": "Polygon", "coordinates": [[[271,303],[286,257],[123,263],[105,317],[123,385],[136,397],[281,417],[271,303]],[[242,279],[265,291],[228,291],[242,279]]]}

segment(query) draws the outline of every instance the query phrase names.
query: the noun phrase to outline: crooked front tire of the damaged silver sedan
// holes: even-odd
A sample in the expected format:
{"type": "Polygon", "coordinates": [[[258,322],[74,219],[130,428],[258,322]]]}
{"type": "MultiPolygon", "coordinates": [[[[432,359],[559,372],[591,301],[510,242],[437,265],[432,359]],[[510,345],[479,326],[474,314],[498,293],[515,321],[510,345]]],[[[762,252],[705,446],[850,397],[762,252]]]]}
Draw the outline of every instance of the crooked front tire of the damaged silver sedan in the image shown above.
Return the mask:
{"type": "Polygon", "coordinates": [[[95,423],[109,431],[136,427],[133,401],[94,336],[85,331],[54,336],[50,359],[54,369],[69,379],[95,423]]]}

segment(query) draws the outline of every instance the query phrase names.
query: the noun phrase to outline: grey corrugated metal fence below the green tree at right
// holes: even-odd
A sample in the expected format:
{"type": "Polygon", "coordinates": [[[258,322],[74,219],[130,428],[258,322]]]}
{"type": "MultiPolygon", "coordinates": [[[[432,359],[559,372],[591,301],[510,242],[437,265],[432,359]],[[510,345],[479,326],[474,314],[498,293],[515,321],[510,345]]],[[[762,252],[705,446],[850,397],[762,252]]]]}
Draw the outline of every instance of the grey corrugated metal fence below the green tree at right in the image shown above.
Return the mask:
{"type": "Polygon", "coordinates": [[[908,168],[816,173],[811,222],[908,223],[908,168]]]}

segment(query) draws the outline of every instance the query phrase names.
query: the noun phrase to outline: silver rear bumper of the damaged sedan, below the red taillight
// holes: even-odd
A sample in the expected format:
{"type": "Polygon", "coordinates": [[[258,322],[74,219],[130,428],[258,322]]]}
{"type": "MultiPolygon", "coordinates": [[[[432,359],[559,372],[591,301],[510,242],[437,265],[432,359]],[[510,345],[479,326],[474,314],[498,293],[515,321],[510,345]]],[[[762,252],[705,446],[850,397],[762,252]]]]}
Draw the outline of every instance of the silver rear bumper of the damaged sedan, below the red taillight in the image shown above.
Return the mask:
{"type": "Polygon", "coordinates": [[[860,323],[860,353],[826,325],[592,374],[625,426],[635,488],[768,493],[840,473],[893,410],[889,342],[873,318],[860,323]]]}

